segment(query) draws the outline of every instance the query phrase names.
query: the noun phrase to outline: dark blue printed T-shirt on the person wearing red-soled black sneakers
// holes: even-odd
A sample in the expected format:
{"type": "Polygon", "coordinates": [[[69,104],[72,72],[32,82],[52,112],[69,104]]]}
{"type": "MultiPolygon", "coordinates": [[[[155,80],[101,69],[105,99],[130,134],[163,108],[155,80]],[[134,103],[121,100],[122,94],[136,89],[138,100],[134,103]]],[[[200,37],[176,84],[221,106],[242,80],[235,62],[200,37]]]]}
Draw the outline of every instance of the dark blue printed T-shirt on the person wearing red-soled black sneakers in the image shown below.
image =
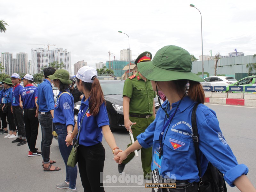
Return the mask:
{"type": "Polygon", "coordinates": [[[27,84],[26,87],[20,90],[20,98],[23,102],[23,108],[36,108],[35,99],[37,98],[37,87],[33,84],[27,84]]]}

